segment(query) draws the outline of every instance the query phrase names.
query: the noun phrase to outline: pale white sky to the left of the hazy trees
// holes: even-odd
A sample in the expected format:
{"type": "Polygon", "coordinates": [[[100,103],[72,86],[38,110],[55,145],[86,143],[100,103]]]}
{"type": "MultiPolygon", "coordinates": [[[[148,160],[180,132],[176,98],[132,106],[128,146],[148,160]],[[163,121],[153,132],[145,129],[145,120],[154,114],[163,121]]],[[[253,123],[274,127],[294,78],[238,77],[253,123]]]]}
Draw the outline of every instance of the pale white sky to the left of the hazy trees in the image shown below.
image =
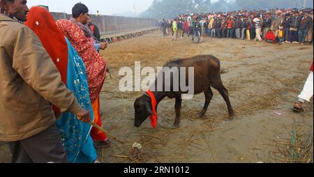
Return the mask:
{"type": "Polygon", "coordinates": [[[147,10],[154,0],[27,0],[27,6],[49,6],[51,12],[71,13],[75,3],[82,2],[89,8],[90,14],[99,10],[101,15],[117,15],[119,13],[134,12],[137,14],[147,10]]]}

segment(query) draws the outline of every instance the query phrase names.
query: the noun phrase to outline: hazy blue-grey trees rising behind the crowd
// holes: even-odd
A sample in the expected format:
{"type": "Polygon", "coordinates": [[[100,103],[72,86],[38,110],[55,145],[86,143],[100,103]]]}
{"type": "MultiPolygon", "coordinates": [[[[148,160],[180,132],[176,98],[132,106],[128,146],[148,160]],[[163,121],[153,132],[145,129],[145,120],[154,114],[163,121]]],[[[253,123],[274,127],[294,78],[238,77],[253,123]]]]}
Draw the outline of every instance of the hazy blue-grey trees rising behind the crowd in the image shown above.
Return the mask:
{"type": "Polygon", "coordinates": [[[179,14],[266,10],[274,8],[313,8],[313,0],[154,0],[140,17],[171,19],[179,14]]]}

